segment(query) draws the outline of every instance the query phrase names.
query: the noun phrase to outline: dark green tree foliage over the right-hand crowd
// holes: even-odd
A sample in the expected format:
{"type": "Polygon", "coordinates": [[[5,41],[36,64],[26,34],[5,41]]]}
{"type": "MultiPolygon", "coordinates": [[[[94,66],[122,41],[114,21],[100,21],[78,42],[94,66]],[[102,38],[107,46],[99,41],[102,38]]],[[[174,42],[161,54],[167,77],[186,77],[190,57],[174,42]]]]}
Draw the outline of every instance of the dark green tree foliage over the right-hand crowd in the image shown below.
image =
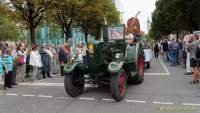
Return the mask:
{"type": "Polygon", "coordinates": [[[150,36],[156,39],[200,28],[200,0],[159,0],[152,15],[150,36]]]}

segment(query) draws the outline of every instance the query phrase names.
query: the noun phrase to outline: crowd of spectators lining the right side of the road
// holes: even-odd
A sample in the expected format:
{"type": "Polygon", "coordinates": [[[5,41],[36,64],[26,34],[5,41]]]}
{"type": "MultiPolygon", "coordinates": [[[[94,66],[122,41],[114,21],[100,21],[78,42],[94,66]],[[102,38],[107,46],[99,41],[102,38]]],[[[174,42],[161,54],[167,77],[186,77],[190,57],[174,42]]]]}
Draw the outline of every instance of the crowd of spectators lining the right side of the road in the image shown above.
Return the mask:
{"type": "Polygon", "coordinates": [[[155,41],[153,50],[155,58],[158,58],[158,53],[162,54],[163,59],[171,66],[181,65],[186,69],[185,75],[192,74],[191,84],[199,83],[200,40],[198,34],[185,35],[179,39],[165,38],[155,41]]]}

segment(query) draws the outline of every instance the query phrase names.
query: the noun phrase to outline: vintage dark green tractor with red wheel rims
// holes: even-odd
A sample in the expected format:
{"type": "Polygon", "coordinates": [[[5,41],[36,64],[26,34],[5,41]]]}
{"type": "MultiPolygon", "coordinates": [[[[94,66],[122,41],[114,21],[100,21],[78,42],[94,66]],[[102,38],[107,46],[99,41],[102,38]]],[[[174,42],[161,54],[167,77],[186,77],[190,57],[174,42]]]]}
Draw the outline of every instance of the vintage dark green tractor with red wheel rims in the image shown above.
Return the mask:
{"type": "MultiPolygon", "coordinates": [[[[77,97],[86,83],[107,85],[112,97],[121,101],[127,83],[140,84],[144,80],[144,52],[141,43],[127,44],[124,25],[104,26],[103,38],[86,42],[87,63],[76,60],[64,66],[64,86],[67,94],[77,97]]],[[[75,55],[76,56],[76,55],[75,55]]]]}

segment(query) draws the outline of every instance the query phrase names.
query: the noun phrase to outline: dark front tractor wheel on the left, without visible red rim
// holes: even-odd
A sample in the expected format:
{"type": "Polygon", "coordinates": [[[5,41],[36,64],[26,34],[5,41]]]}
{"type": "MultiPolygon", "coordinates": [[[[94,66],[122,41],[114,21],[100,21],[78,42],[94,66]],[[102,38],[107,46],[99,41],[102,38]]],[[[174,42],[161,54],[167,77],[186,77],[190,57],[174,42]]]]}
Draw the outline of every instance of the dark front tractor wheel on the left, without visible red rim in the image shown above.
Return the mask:
{"type": "Polygon", "coordinates": [[[77,97],[82,94],[84,89],[85,79],[84,73],[75,69],[72,73],[65,75],[64,86],[65,91],[72,97],[77,97]]]}

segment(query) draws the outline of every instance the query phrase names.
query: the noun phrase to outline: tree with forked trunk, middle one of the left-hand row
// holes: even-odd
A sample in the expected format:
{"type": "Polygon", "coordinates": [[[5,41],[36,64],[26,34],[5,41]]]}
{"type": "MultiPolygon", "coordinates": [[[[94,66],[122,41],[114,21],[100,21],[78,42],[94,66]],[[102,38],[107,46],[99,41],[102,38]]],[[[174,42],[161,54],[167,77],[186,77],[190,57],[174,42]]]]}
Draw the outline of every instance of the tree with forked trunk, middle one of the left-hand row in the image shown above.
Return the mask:
{"type": "Polygon", "coordinates": [[[75,23],[75,18],[78,18],[78,14],[82,7],[79,0],[54,0],[52,13],[49,16],[54,17],[54,21],[60,25],[66,36],[66,40],[71,37],[71,27],[75,23]]]}

